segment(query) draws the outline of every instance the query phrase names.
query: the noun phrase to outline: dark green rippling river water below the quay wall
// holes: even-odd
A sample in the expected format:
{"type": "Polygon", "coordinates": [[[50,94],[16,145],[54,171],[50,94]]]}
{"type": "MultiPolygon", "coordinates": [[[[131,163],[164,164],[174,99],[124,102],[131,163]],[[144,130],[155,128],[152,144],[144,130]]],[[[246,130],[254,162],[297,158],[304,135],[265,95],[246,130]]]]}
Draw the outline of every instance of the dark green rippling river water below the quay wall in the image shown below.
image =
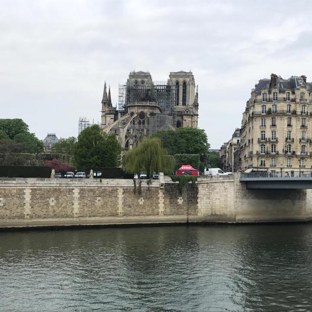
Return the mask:
{"type": "Polygon", "coordinates": [[[312,224],[0,232],[0,311],[311,311],[312,224]]]}

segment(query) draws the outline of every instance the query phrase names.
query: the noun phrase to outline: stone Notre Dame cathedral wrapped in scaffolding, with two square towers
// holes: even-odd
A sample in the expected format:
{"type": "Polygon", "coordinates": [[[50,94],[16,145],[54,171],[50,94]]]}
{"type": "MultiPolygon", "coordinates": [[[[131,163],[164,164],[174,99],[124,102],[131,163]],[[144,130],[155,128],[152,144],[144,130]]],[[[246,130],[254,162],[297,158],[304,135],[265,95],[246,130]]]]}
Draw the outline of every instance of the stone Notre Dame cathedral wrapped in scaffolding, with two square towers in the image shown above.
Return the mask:
{"type": "Polygon", "coordinates": [[[131,71],[118,97],[113,107],[104,83],[101,127],[115,133],[124,149],[159,130],[197,128],[198,87],[191,71],[170,72],[167,82],[153,82],[148,71],[131,71]]]}

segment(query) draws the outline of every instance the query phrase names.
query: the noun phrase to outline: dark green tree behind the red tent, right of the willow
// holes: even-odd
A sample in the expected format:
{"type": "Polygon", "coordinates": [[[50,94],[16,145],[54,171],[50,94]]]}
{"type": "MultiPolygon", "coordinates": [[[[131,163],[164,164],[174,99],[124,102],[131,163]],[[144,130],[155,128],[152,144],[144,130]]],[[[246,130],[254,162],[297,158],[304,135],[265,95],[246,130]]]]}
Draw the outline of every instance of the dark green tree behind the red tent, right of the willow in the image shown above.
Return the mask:
{"type": "Polygon", "coordinates": [[[162,140],[163,147],[171,155],[199,154],[201,162],[207,158],[210,144],[205,130],[196,128],[179,128],[177,130],[163,130],[155,132],[153,137],[162,140]]]}

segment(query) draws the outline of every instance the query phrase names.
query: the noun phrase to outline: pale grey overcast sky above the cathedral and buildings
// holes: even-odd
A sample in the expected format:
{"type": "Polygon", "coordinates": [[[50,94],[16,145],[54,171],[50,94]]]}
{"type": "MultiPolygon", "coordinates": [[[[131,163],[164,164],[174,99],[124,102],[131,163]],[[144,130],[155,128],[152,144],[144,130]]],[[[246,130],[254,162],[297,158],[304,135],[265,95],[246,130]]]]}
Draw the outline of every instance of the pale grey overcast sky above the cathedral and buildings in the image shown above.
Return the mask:
{"type": "Polygon", "coordinates": [[[100,121],[130,70],[189,69],[212,148],[240,127],[251,89],[276,73],[312,81],[312,1],[0,0],[0,118],[43,139],[100,121]]]}

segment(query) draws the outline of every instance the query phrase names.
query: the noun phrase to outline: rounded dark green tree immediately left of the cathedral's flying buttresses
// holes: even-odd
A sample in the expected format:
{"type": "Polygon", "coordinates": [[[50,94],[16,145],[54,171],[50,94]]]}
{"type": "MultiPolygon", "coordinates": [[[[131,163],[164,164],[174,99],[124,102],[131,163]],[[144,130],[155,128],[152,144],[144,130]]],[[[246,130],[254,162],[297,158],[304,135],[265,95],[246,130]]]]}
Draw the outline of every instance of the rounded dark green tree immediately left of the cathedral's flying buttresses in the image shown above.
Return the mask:
{"type": "Polygon", "coordinates": [[[121,145],[115,134],[105,134],[98,125],[82,131],[74,145],[74,163],[79,169],[117,167],[120,165],[121,145]]]}

